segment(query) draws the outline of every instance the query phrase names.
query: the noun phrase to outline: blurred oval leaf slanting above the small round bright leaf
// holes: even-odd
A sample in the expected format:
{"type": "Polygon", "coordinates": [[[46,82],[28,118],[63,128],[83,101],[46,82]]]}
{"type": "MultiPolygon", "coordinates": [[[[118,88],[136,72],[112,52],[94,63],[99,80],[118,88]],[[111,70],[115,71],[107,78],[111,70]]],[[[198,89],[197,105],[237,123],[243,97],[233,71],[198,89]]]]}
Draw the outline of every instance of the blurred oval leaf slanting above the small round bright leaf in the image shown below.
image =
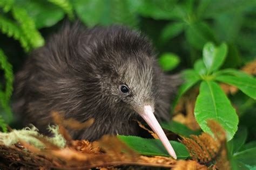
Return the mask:
{"type": "Polygon", "coordinates": [[[184,23],[175,22],[168,24],[164,27],[161,32],[161,40],[166,41],[172,39],[173,37],[178,36],[184,30],[184,23]]]}

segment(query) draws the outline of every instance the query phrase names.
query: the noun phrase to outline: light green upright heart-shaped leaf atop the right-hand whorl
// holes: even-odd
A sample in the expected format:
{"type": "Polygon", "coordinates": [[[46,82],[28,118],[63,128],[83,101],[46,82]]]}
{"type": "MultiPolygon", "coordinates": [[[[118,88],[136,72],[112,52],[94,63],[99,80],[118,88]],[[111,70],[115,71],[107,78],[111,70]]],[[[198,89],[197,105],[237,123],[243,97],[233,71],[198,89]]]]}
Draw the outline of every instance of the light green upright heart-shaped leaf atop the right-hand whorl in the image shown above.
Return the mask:
{"type": "Polygon", "coordinates": [[[203,61],[207,69],[207,74],[218,70],[220,66],[223,65],[226,55],[226,44],[223,43],[219,47],[215,47],[212,42],[205,44],[203,49],[203,61]]]}

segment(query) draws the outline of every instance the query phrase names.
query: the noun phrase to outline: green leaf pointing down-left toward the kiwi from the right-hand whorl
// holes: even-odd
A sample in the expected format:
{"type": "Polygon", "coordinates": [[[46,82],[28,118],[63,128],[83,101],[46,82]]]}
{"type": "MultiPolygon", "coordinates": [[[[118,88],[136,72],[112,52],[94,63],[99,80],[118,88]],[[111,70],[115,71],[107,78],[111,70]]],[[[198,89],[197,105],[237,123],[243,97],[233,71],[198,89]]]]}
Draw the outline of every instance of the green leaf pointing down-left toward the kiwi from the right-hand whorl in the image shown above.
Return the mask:
{"type": "Polygon", "coordinates": [[[178,95],[177,95],[176,99],[173,102],[173,107],[176,106],[179,98],[183,94],[185,94],[188,89],[193,87],[200,80],[199,74],[193,69],[184,70],[181,73],[181,77],[185,82],[178,89],[178,95]]]}

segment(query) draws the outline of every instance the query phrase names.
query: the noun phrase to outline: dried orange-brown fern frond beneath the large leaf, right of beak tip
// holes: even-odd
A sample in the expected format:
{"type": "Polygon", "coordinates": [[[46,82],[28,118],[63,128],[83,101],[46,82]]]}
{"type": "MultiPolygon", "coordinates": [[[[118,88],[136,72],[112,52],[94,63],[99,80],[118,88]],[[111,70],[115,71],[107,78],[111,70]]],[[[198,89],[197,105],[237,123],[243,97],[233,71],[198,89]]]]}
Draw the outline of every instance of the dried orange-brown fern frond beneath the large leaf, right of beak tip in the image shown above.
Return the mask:
{"type": "Polygon", "coordinates": [[[191,138],[183,137],[181,143],[187,147],[191,157],[201,164],[215,163],[215,167],[230,169],[227,160],[225,131],[215,121],[208,121],[208,127],[212,130],[215,138],[208,133],[202,133],[199,136],[191,135],[191,138]]]}

